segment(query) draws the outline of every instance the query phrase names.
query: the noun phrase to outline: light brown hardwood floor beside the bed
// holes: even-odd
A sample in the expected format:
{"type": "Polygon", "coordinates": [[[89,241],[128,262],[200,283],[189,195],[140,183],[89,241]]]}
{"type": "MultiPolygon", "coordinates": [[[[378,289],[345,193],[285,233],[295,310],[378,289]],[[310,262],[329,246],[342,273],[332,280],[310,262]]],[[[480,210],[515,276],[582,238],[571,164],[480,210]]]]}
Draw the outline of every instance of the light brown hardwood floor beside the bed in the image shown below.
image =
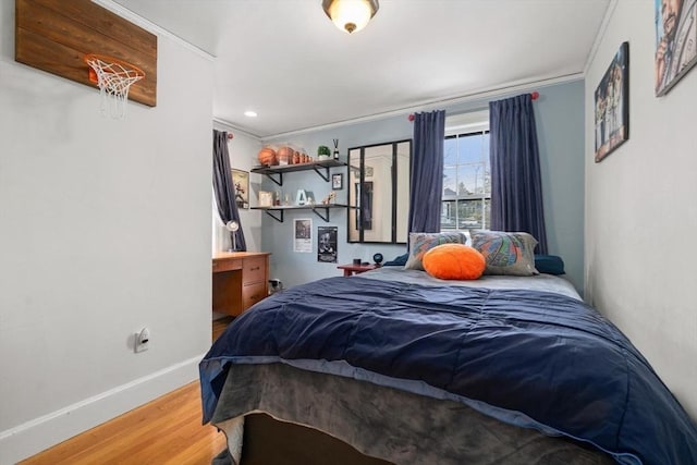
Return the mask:
{"type": "MultiPolygon", "coordinates": [[[[230,318],[213,321],[213,340],[230,318]]],[[[210,464],[225,437],[201,425],[198,381],[48,449],[20,465],[210,464]]]]}

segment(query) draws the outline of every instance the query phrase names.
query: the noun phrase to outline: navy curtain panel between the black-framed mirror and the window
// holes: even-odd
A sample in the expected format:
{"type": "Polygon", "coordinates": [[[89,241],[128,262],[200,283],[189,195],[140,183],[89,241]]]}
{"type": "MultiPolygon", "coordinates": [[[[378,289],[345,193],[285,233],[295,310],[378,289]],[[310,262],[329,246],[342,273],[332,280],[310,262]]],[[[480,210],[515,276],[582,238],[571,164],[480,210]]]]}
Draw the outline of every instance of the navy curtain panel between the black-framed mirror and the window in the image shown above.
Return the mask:
{"type": "Polygon", "coordinates": [[[411,161],[409,232],[439,232],[445,111],[416,113],[411,161]]]}

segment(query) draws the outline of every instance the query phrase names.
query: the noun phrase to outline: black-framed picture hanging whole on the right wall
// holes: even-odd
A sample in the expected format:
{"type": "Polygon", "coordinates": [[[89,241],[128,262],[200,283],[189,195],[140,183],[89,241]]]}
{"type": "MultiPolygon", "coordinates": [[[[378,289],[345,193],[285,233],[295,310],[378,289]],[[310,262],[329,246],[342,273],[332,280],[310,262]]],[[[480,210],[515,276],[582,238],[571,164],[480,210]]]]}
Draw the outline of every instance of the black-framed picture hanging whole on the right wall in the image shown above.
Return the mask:
{"type": "Polygon", "coordinates": [[[596,87],[596,163],[629,138],[629,42],[623,42],[596,87]]]}

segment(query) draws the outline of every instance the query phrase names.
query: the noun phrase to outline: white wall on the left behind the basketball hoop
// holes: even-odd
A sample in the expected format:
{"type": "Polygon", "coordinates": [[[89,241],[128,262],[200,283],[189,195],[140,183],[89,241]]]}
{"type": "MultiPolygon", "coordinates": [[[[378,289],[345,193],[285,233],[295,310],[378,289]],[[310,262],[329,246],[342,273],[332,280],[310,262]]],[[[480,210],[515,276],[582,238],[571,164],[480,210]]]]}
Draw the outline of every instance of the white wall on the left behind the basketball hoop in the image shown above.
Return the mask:
{"type": "Polygon", "coordinates": [[[14,61],[0,2],[0,463],[197,378],[210,345],[211,61],[158,40],[157,107],[14,61]],[[133,333],[151,329],[134,354],[133,333]]]}

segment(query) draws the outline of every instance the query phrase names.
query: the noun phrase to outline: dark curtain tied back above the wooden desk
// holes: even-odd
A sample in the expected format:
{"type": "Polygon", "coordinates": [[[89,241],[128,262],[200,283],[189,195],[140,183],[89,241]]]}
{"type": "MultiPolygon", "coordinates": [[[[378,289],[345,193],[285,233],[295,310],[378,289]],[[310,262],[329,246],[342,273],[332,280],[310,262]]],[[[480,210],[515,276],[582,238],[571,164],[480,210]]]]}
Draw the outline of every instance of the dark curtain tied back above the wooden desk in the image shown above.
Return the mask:
{"type": "Polygon", "coordinates": [[[247,244],[242,231],[242,221],[235,203],[235,187],[232,184],[232,170],[230,168],[230,156],[228,154],[228,133],[213,130],[213,191],[216,192],[216,204],[218,215],[223,223],[236,221],[240,229],[230,232],[230,244],[232,247],[232,234],[235,234],[234,244],[237,250],[246,252],[247,244]]]}

